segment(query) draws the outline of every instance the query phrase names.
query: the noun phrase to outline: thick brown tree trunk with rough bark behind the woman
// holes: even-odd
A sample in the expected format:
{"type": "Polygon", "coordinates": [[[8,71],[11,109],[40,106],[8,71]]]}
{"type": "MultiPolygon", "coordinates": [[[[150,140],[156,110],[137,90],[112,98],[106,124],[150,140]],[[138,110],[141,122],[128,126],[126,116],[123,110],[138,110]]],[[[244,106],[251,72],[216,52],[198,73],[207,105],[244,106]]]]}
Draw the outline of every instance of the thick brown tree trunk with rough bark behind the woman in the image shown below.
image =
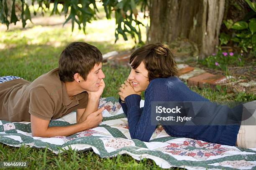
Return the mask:
{"type": "Polygon", "coordinates": [[[225,0],[151,0],[147,43],[178,37],[195,42],[199,56],[215,52],[225,9],[225,0]]]}

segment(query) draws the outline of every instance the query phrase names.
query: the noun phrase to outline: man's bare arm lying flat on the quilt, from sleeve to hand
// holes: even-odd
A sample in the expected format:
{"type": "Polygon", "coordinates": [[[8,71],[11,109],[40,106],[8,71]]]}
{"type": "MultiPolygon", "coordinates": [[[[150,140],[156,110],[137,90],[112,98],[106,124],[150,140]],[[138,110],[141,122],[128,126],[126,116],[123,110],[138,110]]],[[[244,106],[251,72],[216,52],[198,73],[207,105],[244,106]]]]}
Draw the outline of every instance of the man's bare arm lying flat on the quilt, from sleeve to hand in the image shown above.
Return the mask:
{"type": "Polygon", "coordinates": [[[43,120],[36,116],[31,115],[31,132],[32,136],[37,137],[54,137],[54,136],[70,136],[74,133],[78,133],[90,128],[94,128],[99,125],[102,121],[103,109],[99,109],[96,112],[92,112],[87,116],[87,119],[83,122],[77,123],[75,125],[70,125],[66,127],[48,127],[49,120],[43,120]]]}

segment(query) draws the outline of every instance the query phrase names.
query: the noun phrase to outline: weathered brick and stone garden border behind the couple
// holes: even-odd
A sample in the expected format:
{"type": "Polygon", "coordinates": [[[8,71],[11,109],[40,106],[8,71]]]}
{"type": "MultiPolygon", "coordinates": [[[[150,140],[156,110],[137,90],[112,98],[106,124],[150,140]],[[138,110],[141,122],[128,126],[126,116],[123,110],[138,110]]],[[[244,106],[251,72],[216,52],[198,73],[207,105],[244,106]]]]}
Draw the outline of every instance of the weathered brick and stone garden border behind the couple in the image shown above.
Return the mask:
{"type": "MultiPolygon", "coordinates": [[[[104,61],[114,61],[117,64],[128,64],[131,52],[116,51],[108,52],[103,55],[104,61]]],[[[199,88],[210,87],[217,90],[217,85],[222,89],[226,88],[227,92],[246,92],[256,95],[256,81],[251,80],[236,80],[231,81],[231,78],[223,75],[214,75],[198,67],[191,67],[187,64],[178,64],[178,77],[183,82],[187,82],[188,86],[197,86],[199,88]]]]}

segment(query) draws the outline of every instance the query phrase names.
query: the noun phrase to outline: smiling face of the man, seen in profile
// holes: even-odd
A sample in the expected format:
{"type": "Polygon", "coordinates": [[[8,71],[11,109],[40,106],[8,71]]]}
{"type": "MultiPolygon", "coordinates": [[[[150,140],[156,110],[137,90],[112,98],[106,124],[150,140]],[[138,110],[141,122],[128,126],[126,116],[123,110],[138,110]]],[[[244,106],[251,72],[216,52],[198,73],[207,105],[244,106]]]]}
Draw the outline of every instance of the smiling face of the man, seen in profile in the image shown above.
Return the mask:
{"type": "Polygon", "coordinates": [[[82,80],[79,84],[87,92],[97,92],[99,90],[100,80],[105,78],[105,75],[101,70],[101,67],[101,62],[100,64],[95,64],[92,70],[87,75],[86,81],[84,81],[81,77],[82,80]]]}

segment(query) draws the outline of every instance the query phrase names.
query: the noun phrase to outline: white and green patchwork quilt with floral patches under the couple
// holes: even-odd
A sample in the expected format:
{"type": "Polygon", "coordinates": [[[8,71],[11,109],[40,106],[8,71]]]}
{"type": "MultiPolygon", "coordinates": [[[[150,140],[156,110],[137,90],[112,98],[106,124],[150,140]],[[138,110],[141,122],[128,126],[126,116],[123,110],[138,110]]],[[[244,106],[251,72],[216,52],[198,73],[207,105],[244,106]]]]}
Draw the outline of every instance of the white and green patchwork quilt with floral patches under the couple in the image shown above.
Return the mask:
{"type": "MultiPolygon", "coordinates": [[[[128,122],[118,101],[113,97],[101,98],[99,107],[105,106],[102,123],[97,128],[74,135],[52,138],[32,137],[30,122],[0,120],[0,142],[6,145],[33,148],[48,147],[54,153],[60,148],[93,150],[101,158],[128,154],[134,159],[154,160],[161,168],[180,167],[200,169],[256,169],[256,148],[207,143],[189,138],[169,136],[158,125],[149,142],[131,139],[128,122]]],[[[143,107],[143,100],[141,101],[143,107]]],[[[51,120],[49,126],[68,126],[76,123],[76,113],[51,120]]]]}

